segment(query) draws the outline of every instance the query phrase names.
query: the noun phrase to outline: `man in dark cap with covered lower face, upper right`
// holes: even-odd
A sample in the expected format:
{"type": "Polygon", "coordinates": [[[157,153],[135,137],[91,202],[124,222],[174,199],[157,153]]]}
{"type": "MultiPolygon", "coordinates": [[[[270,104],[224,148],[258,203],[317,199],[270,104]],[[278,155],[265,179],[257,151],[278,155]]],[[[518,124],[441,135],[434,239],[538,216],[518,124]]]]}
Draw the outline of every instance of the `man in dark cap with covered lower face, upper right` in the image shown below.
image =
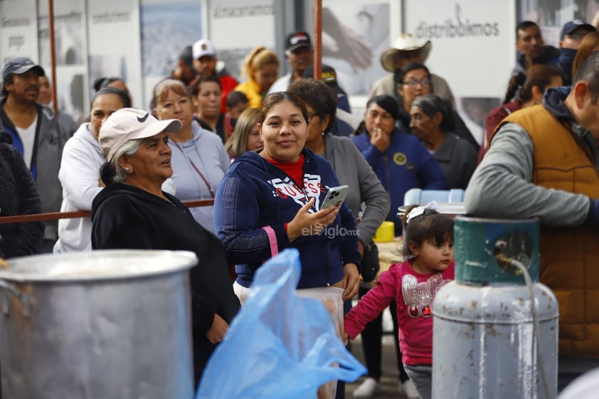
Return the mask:
{"type": "Polygon", "coordinates": [[[572,84],[572,63],[574,62],[578,48],[581,47],[583,38],[587,33],[594,31],[596,31],[595,26],[580,19],[566,22],[563,28],[561,28],[558,67],[563,75],[564,86],[572,84]]]}

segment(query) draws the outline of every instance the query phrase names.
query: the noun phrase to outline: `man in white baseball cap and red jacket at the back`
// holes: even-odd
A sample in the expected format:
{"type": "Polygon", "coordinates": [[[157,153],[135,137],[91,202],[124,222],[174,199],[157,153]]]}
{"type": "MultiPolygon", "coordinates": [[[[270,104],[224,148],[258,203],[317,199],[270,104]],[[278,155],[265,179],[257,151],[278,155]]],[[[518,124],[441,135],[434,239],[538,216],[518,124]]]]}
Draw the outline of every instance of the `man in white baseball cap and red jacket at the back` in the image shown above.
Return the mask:
{"type": "MultiPolygon", "coordinates": [[[[193,67],[201,76],[216,75],[221,81],[221,113],[227,112],[227,95],[235,90],[239,82],[230,75],[224,63],[218,63],[214,45],[208,39],[200,39],[191,46],[194,56],[193,67]]],[[[193,85],[194,83],[189,83],[193,85]]]]}

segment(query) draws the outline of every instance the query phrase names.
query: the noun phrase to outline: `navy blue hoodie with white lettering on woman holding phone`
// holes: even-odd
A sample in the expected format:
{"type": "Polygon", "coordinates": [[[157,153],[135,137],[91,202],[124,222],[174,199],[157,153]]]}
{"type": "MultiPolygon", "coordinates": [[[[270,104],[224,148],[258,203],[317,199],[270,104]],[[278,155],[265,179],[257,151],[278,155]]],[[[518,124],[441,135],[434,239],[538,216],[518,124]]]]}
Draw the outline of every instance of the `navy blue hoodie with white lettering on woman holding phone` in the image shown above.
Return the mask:
{"type": "Polygon", "coordinates": [[[347,263],[360,264],[356,222],[346,204],[319,235],[289,242],[285,223],[316,198],[320,209],[327,188],[339,186],[329,161],[304,149],[304,189],[284,171],[255,152],[246,152],[230,166],[216,191],[214,224],[225,245],[227,260],[235,264],[237,282],[250,287],[255,270],[271,257],[270,242],[262,228],[270,226],[278,251],[297,248],[302,262],[298,288],[325,287],[339,282],[347,263]]]}

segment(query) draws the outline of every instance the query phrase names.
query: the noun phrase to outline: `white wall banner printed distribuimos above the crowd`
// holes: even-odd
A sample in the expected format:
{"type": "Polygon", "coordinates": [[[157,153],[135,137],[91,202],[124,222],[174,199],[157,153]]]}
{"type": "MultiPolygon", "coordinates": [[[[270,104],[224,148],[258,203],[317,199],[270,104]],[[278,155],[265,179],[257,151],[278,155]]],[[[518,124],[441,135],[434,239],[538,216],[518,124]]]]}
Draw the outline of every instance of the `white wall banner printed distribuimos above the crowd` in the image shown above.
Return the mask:
{"type": "Polygon", "coordinates": [[[426,65],[456,97],[502,97],[515,63],[514,1],[405,0],[405,32],[431,41],[426,65]]]}

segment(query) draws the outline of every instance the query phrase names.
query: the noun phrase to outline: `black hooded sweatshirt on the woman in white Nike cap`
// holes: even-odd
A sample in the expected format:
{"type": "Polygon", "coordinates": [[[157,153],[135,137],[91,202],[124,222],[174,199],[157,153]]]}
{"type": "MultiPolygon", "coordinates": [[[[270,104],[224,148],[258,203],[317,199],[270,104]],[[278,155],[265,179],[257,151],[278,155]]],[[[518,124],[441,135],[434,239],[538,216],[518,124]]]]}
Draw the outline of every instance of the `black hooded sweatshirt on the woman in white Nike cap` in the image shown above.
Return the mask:
{"type": "Polygon", "coordinates": [[[198,264],[191,268],[191,312],[196,383],[216,348],[206,339],[214,314],[227,323],[238,312],[225,252],[220,240],[196,222],[171,194],[169,201],[126,183],[106,186],[92,203],[92,248],[189,250],[198,264]]]}

